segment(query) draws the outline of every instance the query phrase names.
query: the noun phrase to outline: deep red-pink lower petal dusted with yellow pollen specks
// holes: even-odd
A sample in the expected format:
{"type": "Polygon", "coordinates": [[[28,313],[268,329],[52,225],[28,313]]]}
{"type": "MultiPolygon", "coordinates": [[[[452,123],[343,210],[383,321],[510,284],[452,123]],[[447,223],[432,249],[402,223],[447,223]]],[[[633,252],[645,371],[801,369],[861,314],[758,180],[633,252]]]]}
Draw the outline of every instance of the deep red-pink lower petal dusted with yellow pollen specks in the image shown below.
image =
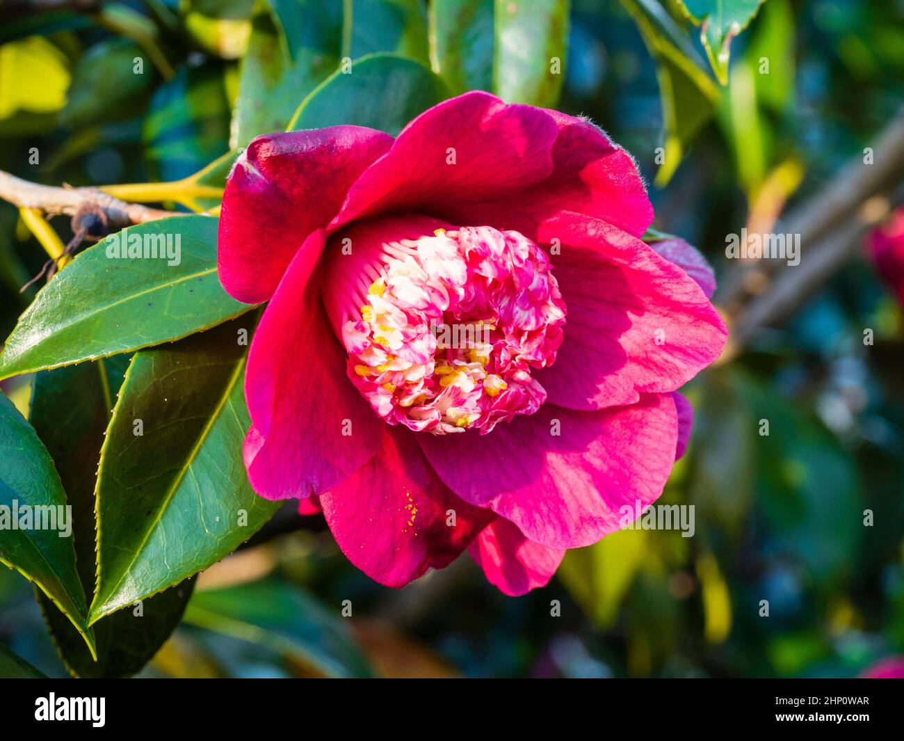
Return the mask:
{"type": "Polygon", "coordinates": [[[384,424],[380,451],[320,498],[345,556],[386,586],[449,565],[494,518],[447,489],[412,435],[384,424]]]}

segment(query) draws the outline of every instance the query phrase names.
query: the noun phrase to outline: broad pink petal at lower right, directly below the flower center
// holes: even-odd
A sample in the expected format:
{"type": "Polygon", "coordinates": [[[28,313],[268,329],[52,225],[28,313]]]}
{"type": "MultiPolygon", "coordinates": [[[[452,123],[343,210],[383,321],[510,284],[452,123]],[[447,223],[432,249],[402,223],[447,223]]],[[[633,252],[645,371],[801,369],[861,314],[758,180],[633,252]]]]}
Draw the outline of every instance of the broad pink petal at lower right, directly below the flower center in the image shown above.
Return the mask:
{"type": "Polygon", "coordinates": [[[589,546],[663,491],[678,442],[672,394],[575,412],[543,404],[487,435],[418,435],[439,478],[551,548],[589,546]],[[558,434],[556,434],[558,432],[558,434]],[[639,502],[639,504],[637,504],[639,502]]]}

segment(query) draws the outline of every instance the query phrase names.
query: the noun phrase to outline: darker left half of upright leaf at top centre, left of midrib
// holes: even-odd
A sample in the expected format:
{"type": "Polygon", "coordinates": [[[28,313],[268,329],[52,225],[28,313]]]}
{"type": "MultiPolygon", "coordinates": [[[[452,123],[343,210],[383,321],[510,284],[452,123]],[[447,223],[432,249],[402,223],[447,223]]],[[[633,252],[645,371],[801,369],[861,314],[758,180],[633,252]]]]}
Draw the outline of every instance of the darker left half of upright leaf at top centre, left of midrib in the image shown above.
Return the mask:
{"type": "Polygon", "coordinates": [[[430,3],[430,62],[453,95],[493,90],[494,0],[430,3]]]}

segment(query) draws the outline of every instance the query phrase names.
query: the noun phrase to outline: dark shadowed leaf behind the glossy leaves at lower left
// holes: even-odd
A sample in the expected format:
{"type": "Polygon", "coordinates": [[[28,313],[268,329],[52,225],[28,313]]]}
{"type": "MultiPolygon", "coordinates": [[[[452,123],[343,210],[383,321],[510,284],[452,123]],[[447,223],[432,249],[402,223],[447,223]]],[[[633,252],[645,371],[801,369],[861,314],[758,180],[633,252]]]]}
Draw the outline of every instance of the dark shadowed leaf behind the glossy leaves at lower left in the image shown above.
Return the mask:
{"type": "MultiPolygon", "coordinates": [[[[116,356],[78,366],[42,371],[34,376],[31,423],[47,446],[72,507],[72,529],[81,584],[94,593],[94,489],[104,432],[113,399],[128,366],[116,356]]],[[[128,677],[145,666],[173,632],[193,582],[179,584],[146,600],[134,610],[121,610],[95,623],[97,661],[70,622],[39,594],[53,643],[72,674],[78,677],[128,677]]]]}

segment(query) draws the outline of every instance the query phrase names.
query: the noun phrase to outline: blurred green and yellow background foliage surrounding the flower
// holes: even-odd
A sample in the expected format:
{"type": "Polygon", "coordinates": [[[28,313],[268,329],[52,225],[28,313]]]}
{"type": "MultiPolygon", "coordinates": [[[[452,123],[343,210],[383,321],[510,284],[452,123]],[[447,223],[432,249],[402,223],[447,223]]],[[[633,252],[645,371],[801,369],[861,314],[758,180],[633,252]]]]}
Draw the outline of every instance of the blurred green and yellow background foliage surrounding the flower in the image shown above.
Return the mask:
{"type": "MultiPolygon", "coordinates": [[[[767,0],[733,39],[713,24],[701,35],[707,5],[146,0],[33,14],[4,4],[0,169],[50,185],[173,181],[293,116],[298,127],[352,118],[397,133],[436,100],[482,88],[606,128],[651,183],[655,225],[698,245],[721,277],[726,234],[768,230],[895,117],[904,3],[767,0]],[[563,73],[551,77],[557,52],[563,73]],[[338,76],[343,58],[358,75],[338,76]]],[[[746,23],[744,6],[758,4],[728,5],[746,23]]],[[[4,335],[44,259],[3,204],[4,335]]],[[[696,379],[691,448],[661,500],[695,507],[693,537],[619,532],[571,551],[549,586],[520,599],[466,556],[395,592],[346,561],[322,518],[284,508],[197,579],[143,674],[854,676],[904,652],[902,340],[900,307],[854,261],[781,328],[696,379]]],[[[4,391],[26,410],[30,384],[4,391]]],[[[66,673],[31,586],[5,570],[0,642],[66,673]]]]}

